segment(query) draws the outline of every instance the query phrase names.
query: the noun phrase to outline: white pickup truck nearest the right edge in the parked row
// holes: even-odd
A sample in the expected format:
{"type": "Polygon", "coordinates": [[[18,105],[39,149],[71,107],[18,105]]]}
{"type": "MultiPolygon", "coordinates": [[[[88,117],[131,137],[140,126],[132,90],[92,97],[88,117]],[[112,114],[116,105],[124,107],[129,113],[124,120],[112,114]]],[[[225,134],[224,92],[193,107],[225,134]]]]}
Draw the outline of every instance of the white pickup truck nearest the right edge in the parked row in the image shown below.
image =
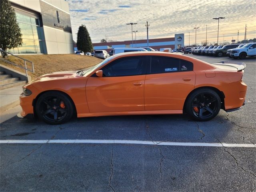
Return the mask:
{"type": "Polygon", "coordinates": [[[244,59],[246,56],[256,56],[256,43],[248,43],[241,48],[230,50],[230,57],[244,59]]]}

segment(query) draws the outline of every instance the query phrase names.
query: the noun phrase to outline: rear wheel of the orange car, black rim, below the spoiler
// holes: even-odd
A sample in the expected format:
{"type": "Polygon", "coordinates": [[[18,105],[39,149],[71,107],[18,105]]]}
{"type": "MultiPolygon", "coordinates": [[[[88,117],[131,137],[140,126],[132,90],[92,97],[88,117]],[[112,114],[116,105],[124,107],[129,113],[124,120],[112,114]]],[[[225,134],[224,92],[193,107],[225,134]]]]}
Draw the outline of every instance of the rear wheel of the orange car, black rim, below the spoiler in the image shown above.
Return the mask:
{"type": "Polygon", "coordinates": [[[208,88],[198,89],[190,94],[186,100],[186,112],[198,121],[213,119],[220,111],[220,96],[208,88]]]}

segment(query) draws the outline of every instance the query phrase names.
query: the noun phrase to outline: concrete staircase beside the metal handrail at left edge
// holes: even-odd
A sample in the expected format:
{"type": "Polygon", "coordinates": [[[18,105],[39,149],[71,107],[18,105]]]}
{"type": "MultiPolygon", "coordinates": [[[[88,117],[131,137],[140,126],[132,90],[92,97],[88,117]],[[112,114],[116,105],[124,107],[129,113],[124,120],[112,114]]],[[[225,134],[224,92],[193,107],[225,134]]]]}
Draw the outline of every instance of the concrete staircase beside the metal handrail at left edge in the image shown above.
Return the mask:
{"type": "Polygon", "coordinates": [[[0,90],[26,84],[25,80],[20,80],[19,77],[12,77],[11,74],[0,71],[0,90]]]}

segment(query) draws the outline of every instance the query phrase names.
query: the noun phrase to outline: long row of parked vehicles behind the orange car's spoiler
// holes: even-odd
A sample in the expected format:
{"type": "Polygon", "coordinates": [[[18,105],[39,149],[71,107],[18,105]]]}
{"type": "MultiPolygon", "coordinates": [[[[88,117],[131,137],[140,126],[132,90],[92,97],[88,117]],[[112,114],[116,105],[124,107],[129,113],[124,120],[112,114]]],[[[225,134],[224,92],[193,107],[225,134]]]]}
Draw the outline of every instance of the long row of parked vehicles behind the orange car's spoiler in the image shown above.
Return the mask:
{"type": "Polygon", "coordinates": [[[185,48],[184,54],[196,54],[217,57],[228,56],[235,59],[244,59],[246,58],[246,56],[256,56],[256,43],[185,48]]]}

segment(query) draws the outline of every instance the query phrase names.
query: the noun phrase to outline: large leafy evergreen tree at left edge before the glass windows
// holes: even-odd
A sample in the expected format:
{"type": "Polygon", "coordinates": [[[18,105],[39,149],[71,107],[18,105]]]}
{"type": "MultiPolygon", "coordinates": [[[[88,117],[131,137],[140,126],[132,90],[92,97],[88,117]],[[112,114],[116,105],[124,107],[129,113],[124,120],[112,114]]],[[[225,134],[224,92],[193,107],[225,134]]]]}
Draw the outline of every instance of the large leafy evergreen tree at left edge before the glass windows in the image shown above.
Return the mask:
{"type": "MultiPolygon", "coordinates": [[[[0,0],[0,48],[16,48],[22,45],[22,34],[16,20],[14,8],[11,7],[9,0],[0,0]]],[[[7,54],[2,53],[5,58],[7,54]]]]}

